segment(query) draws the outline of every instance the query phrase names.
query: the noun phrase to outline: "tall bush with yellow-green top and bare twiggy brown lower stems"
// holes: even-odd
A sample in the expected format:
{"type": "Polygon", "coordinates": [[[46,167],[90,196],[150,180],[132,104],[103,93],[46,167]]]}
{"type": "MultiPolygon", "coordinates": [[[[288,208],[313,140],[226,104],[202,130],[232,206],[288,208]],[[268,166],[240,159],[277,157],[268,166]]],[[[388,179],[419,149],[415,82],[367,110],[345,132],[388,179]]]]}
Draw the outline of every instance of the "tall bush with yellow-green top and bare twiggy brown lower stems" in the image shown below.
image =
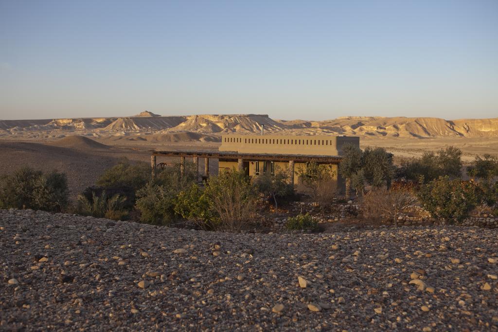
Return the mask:
{"type": "Polygon", "coordinates": [[[256,195],[244,172],[233,169],[210,177],[205,194],[219,218],[220,229],[238,231],[254,216],[256,195]]]}

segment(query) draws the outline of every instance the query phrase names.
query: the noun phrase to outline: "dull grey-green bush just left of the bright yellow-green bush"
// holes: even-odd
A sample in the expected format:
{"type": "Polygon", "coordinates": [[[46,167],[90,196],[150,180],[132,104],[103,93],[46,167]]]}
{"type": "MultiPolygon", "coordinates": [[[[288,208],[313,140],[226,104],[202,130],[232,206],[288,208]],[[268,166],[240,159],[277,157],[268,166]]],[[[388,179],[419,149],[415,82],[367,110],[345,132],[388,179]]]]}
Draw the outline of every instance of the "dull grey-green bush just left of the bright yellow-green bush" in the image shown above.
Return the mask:
{"type": "Polygon", "coordinates": [[[140,211],[140,221],[155,225],[169,224],[175,216],[174,202],[177,193],[149,181],[136,192],[135,207],[140,211]]]}

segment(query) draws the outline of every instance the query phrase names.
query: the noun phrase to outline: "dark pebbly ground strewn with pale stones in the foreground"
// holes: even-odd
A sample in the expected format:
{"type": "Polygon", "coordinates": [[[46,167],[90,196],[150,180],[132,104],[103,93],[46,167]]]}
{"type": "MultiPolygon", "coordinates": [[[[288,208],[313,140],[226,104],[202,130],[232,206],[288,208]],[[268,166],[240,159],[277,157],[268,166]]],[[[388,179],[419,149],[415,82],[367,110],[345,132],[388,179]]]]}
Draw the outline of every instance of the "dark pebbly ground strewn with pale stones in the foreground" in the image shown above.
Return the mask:
{"type": "Polygon", "coordinates": [[[0,211],[1,330],[498,330],[498,229],[231,234],[0,211]]]}

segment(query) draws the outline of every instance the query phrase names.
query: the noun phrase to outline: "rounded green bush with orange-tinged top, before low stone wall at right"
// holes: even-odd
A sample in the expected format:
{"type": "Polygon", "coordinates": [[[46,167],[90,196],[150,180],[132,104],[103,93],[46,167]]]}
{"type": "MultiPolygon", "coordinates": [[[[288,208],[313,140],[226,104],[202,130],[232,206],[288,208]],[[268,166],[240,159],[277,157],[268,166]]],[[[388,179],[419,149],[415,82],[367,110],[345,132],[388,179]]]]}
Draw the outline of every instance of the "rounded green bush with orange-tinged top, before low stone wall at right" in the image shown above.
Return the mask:
{"type": "Polygon", "coordinates": [[[482,190],[473,181],[439,177],[422,185],[417,196],[432,217],[463,221],[483,199],[482,190]]]}

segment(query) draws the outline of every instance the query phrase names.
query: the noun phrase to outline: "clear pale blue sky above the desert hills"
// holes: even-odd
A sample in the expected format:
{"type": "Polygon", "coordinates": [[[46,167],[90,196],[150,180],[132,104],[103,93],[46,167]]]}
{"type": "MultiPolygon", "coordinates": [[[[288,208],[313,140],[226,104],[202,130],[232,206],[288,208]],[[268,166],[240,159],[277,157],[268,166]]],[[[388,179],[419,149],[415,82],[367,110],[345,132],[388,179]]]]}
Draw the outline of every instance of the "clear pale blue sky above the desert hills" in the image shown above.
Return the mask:
{"type": "Polygon", "coordinates": [[[0,0],[0,118],[498,116],[498,0],[0,0]]]}

